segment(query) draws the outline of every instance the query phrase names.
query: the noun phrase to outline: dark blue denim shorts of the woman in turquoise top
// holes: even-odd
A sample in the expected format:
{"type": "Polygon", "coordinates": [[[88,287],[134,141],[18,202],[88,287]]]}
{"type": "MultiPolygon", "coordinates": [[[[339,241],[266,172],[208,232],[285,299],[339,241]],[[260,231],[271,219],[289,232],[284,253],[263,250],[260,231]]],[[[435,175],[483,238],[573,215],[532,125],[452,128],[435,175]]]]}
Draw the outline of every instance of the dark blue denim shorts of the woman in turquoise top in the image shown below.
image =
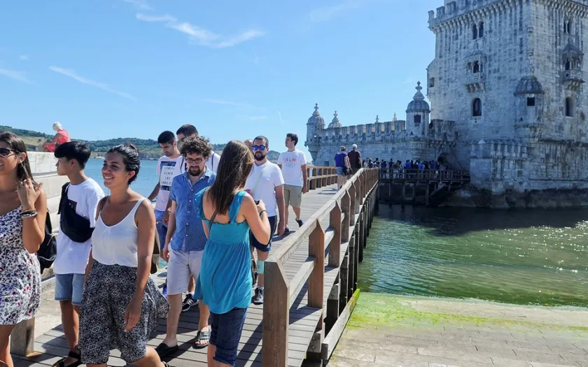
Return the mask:
{"type": "Polygon", "coordinates": [[[235,366],[237,347],[245,324],[246,308],[233,308],[227,313],[210,312],[210,344],[216,347],[214,360],[221,364],[235,366]]]}

